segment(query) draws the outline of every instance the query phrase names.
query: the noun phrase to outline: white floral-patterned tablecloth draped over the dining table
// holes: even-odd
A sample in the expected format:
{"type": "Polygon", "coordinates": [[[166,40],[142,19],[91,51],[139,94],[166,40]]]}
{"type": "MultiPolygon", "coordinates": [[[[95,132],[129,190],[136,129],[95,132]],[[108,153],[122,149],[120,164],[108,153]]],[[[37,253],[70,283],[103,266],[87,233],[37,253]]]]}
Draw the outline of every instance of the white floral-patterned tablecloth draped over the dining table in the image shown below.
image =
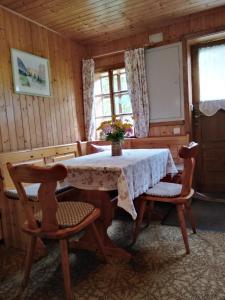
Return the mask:
{"type": "Polygon", "coordinates": [[[167,173],[177,169],[169,149],[129,149],[122,156],[111,151],[65,160],[68,169],[65,183],[80,189],[118,190],[118,206],[137,213],[133,199],[154,186],[167,173]]]}

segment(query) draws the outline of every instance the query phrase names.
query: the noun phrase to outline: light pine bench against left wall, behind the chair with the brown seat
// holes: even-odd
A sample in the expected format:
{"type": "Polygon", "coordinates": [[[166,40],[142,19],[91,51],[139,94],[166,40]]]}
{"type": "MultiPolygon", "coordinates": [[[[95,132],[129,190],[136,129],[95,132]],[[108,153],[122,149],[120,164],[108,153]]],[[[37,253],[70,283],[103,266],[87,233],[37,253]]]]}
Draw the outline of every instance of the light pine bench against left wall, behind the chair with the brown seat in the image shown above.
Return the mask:
{"type": "MultiPolygon", "coordinates": [[[[60,162],[79,156],[79,154],[78,143],[0,154],[0,223],[2,228],[0,236],[2,235],[6,246],[25,249],[27,242],[26,235],[21,231],[21,224],[25,220],[23,208],[17,201],[17,193],[6,163],[11,162],[14,165],[28,163],[45,166],[52,162],[60,162]],[[12,189],[14,191],[11,191],[12,189]]],[[[72,195],[72,188],[62,189],[58,191],[57,198],[61,200],[67,197],[66,200],[69,200],[72,195]]],[[[31,199],[30,204],[34,210],[39,209],[39,203],[34,199],[31,199]]]]}

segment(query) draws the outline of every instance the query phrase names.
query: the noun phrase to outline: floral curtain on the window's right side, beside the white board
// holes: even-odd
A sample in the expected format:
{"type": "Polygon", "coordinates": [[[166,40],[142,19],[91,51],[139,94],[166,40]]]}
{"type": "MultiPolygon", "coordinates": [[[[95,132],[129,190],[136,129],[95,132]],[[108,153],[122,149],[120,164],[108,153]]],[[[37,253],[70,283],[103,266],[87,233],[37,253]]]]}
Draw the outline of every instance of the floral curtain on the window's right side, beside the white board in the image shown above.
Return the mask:
{"type": "Polygon", "coordinates": [[[125,68],[134,115],[135,135],[137,137],[147,137],[150,107],[143,48],[125,51],[125,68]]]}

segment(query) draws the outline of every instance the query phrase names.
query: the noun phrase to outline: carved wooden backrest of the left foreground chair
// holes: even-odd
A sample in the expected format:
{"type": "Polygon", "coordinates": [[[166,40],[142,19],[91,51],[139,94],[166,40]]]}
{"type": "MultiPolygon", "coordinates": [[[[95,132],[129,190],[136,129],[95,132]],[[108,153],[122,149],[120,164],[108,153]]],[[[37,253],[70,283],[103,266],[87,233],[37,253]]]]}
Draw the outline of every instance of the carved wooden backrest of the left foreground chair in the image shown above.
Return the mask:
{"type": "Polygon", "coordinates": [[[38,200],[42,210],[41,230],[44,232],[57,230],[56,212],[58,203],[55,190],[57,181],[63,180],[67,176],[67,169],[60,164],[53,167],[39,167],[27,164],[13,166],[11,163],[7,163],[7,167],[24,208],[28,227],[36,229],[38,224],[28,203],[29,200],[23,183],[40,183],[38,200]]]}

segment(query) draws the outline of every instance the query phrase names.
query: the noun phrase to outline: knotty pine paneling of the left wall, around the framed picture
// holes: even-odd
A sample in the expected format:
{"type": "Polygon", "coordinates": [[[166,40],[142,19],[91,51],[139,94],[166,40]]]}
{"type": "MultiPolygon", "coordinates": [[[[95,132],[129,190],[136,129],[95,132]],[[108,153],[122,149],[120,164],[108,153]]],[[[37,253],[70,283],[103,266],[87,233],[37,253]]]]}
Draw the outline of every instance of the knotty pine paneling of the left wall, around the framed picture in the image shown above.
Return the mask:
{"type": "Polygon", "coordinates": [[[0,152],[84,137],[81,58],[85,49],[0,8],[0,152]],[[10,48],[49,59],[51,97],[13,91],[10,48]]]}

